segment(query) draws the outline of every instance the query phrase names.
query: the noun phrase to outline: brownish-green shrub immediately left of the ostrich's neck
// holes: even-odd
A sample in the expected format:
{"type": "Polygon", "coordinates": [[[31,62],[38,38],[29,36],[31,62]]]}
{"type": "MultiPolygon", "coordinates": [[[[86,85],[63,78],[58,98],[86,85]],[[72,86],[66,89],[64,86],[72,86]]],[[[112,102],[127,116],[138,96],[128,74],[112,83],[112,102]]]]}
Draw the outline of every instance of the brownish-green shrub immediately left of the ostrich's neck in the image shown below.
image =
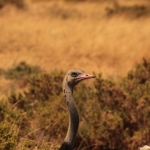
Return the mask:
{"type": "MultiPolygon", "coordinates": [[[[19,133],[22,137],[28,135],[24,142],[25,147],[30,147],[32,144],[32,148],[35,145],[42,147],[45,145],[43,138],[45,142],[50,142],[49,139],[60,136],[63,126],[60,129],[56,127],[60,126],[60,120],[63,120],[64,117],[60,113],[64,110],[64,105],[60,105],[63,99],[61,94],[63,75],[62,72],[35,75],[27,80],[29,87],[27,91],[10,95],[9,102],[26,114],[20,124],[19,133]]],[[[45,146],[47,147],[48,144],[45,146]]]]}

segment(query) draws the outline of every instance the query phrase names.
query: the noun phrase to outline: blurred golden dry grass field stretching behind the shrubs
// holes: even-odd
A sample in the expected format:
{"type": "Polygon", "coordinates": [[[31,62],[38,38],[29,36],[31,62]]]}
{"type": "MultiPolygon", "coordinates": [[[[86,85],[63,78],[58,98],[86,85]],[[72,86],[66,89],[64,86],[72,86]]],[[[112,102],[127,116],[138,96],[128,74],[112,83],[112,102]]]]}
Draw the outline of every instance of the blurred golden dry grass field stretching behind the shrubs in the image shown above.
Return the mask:
{"type": "Polygon", "coordinates": [[[30,2],[26,10],[4,7],[0,67],[25,61],[47,71],[80,68],[114,79],[124,76],[150,57],[150,18],[109,18],[105,8],[111,5],[50,1],[30,2]]]}

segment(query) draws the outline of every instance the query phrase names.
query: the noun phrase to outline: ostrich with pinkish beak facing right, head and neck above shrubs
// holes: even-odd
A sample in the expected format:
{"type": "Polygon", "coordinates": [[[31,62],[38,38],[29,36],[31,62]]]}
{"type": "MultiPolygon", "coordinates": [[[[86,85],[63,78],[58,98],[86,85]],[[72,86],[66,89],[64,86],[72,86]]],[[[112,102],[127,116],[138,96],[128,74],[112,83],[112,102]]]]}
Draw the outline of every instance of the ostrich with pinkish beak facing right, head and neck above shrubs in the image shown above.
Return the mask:
{"type": "Polygon", "coordinates": [[[63,92],[69,111],[69,127],[64,142],[59,150],[73,149],[73,142],[79,125],[79,113],[73,98],[73,88],[80,81],[90,78],[95,78],[95,76],[86,74],[81,70],[74,70],[74,69],[69,70],[64,77],[63,92]]]}

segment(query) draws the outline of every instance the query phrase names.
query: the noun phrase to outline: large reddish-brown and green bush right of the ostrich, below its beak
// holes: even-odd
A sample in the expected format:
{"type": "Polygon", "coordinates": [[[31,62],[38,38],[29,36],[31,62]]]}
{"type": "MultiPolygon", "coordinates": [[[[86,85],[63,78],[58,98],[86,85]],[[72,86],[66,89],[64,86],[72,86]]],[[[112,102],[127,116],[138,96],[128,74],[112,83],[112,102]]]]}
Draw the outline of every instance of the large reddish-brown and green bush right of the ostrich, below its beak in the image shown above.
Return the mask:
{"type": "Polygon", "coordinates": [[[95,119],[98,122],[94,123],[98,126],[94,128],[98,144],[118,149],[137,149],[148,143],[150,62],[143,60],[118,84],[99,76],[95,88],[101,114],[95,119]]]}

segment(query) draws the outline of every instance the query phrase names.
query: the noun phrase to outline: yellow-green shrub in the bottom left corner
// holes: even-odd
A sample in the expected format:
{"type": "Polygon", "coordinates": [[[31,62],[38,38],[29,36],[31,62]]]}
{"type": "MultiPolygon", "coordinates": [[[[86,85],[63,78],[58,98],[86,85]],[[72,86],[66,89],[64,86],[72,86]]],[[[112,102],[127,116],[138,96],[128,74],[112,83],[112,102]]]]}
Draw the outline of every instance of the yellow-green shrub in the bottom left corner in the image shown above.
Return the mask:
{"type": "MultiPolygon", "coordinates": [[[[4,100],[5,101],[5,100],[4,100]]],[[[0,101],[0,149],[12,150],[18,143],[17,115],[5,101],[0,101]]]]}

